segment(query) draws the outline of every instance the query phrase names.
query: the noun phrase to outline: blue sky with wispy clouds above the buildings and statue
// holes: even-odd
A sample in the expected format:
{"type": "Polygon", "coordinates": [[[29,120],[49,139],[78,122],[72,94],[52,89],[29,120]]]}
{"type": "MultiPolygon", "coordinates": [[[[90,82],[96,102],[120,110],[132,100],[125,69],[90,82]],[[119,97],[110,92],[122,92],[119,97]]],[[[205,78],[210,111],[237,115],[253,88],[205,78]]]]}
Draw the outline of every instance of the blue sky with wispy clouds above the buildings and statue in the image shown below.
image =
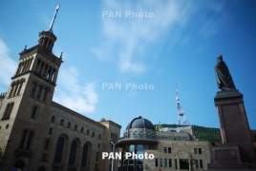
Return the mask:
{"type": "Polygon", "coordinates": [[[2,1],[0,92],[11,83],[18,53],[37,44],[58,4],[53,53],[63,51],[64,63],[56,103],[95,121],[118,122],[122,134],[139,116],[177,123],[177,83],[189,123],[220,127],[213,68],[222,54],[256,129],[255,1],[2,1]],[[116,83],[122,88],[112,89],[116,83]],[[126,87],[132,84],[143,89],[126,87]]]}

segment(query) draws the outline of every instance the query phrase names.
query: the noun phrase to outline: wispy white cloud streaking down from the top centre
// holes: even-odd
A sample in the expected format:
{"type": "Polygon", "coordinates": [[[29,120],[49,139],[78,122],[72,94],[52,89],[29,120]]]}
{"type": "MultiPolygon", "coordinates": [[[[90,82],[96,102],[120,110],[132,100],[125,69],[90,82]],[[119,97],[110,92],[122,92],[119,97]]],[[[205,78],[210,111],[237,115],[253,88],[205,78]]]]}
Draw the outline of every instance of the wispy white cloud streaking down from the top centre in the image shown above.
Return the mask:
{"type": "MultiPolygon", "coordinates": [[[[117,56],[117,66],[122,73],[132,72],[142,74],[145,65],[145,50],[157,39],[168,31],[171,24],[178,21],[179,13],[175,1],[162,3],[160,1],[116,1],[105,0],[102,11],[121,11],[121,17],[102,17],[103,45],[100,48],[92,48],[98,59],[102,59],[102,53],[117,56]],[[145,15],[152,12],[154,17],[145,15]],[[135,15],[126,15],[126,12],[143,12],[142,18],[135,15]],[[105,41],[104,41],[105,40],[105,41]],[[111,45],[111,46],[110,46],[111,45]],[[111,50],[115,49],[115,50],[111,50]]],[[[108,57],[106,57],[108,59],[108,57]]]]}

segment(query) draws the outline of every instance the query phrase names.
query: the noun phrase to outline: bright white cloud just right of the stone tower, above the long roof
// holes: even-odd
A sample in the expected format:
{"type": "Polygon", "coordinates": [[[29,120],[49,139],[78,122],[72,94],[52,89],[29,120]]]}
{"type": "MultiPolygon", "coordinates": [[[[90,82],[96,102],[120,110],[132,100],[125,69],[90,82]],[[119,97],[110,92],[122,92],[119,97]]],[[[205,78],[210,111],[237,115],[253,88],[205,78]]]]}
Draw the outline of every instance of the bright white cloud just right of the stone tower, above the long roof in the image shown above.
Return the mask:
{"type": "Polygon", "coordinates": [[[96,109],[98,95],[96,85],[87,83],[83,86],[78,85],[78,71],[71,66],[63,69],[59,74],[59,85],[62,90],[56,89],[53,100],[59,104],[67,106],[79,113],[92,113],[96,109]]]}

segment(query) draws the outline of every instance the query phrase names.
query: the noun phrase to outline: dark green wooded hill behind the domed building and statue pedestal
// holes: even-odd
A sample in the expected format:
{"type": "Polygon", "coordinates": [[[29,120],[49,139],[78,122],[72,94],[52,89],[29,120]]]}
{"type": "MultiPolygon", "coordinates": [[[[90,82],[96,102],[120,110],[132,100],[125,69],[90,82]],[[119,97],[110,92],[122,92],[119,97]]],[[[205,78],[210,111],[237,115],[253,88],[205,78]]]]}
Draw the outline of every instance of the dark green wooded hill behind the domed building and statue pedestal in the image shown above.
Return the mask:
{"type": "MultiPolygon", "coordinates": [[[[178,124],[161,124],[162,127],[181,127],[178,124]]],[[[194,134],[197,139],[200,141],[207,141],[207,142],[222,142],[222,136],[220,128],[214,127],[203,127],[199,125],[192,125],[194,129],[194,134]]],[[[256,142],[256,129],[250,130],[253,142],[256,142]]]]}

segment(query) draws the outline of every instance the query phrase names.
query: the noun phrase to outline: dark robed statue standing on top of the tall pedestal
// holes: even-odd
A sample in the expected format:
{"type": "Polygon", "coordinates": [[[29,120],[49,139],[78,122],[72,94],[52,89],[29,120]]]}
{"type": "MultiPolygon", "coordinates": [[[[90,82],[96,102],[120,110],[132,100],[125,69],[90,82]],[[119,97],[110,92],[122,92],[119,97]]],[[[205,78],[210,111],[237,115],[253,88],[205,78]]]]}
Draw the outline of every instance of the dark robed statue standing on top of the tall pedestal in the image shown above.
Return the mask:
{"type": "Polygon", "coordinates": [[[216,74],[217,85],[220,89],[236,89],[229,70],[223,61],[222,55],[217,58],[217,65],[214,66],[214,70],[216,74]]]}

